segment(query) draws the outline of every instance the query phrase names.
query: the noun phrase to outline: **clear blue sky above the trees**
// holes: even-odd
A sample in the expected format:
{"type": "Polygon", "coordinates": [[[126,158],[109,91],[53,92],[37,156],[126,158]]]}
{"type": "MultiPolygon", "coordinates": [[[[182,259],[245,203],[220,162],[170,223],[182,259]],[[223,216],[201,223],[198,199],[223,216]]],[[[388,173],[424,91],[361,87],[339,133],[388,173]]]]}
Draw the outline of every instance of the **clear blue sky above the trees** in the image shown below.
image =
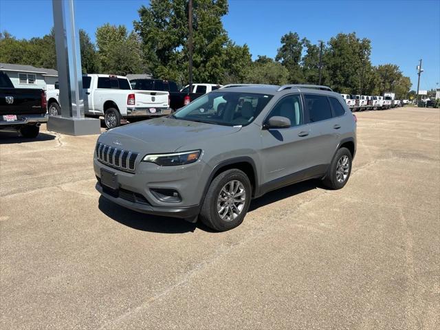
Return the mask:
{"type": "MultiPolygon", "coordinates": [[[[417,89],[416,66],[425,70],[420,89],[440,83],[440,0],[295,1],[230,0],[223,25],[230,39],[247,43],[252,56],[274,57],[283,34],[298,32],[314,43],[339,32],[371,40],[373,65],[393,63],[417,89]]],[[[76,23],[94,40],[98,26],[133,28],[140,0],[76,0],[76,23]]],[[[52,0],[0,0],[0,30],[17,38],[43,36],[53,25],[52,0]]],[[[439,85],[440,88],[440,85],[439,85]]]]}

